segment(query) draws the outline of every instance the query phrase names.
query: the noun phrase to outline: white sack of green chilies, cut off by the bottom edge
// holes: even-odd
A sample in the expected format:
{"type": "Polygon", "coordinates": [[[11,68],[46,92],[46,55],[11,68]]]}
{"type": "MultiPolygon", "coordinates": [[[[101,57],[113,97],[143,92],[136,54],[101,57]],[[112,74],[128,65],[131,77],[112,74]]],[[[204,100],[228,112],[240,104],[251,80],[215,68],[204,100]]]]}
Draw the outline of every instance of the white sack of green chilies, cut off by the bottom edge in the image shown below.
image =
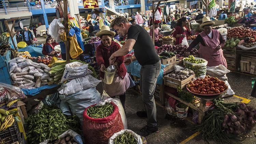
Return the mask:
{"type": "Polygon", "coordinates": [[[109,144],[116,144],[116,143],[130,143],[130,144],[143,144],[141,136],[136,134],[132,130],[120,130],[114,133],[109,138],[109,144]]]}

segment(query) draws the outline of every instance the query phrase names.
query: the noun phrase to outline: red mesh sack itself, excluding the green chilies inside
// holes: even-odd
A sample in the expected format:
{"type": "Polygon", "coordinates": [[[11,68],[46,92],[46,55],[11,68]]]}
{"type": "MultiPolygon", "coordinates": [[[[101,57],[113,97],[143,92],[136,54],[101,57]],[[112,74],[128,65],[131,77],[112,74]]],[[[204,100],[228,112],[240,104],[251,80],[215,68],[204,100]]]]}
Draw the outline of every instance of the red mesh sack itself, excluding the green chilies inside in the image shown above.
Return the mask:
{"type": "MultiPolygon", "coordinates": [[[[121,115],[118,112],[117,105],[111,102],[114,111],[111,115],[104,118],[91,118],[84,111],[83,132],[85,143],[88,144],[107,144],[109,138],[116,132],[124,129],[121,115]]],[[[91,106],[95,106],[91,105],[91,106]]]]}

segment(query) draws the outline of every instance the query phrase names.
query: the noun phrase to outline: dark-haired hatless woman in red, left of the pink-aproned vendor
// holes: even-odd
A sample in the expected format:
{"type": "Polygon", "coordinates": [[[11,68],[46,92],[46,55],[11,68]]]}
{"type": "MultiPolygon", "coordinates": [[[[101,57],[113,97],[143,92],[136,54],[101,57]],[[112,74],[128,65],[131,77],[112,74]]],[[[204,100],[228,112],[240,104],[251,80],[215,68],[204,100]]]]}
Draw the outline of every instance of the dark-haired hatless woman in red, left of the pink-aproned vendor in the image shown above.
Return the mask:
{"type": "Polygon", "coordinates": [[[178,20],[177,27],[173,32],[173,37],[176,38],[175,45],[181,44],[183,38],[187,38],[188,35],[191,35],[191,29],[188,24],[188,20],[186,17],[182,17],[178,20]],[[188,25],[188,26],[187,26],[188,25]]]}

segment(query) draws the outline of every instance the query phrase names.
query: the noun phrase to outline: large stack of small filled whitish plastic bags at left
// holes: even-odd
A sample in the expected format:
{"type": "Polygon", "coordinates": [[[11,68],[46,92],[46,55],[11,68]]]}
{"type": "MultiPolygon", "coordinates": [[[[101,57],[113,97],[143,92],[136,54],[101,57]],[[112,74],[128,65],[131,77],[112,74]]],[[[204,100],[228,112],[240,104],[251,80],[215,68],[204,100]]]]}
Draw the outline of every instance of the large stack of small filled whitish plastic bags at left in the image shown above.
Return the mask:
{"type": "Polygon", "coordinates": [[[54,79],[49,75],[49,68],[44,63],[36,63],[24,57],[16,57],[9,61],[10,75],[13,84],[20,88],[38,88],[51,85],[54,79]]]}

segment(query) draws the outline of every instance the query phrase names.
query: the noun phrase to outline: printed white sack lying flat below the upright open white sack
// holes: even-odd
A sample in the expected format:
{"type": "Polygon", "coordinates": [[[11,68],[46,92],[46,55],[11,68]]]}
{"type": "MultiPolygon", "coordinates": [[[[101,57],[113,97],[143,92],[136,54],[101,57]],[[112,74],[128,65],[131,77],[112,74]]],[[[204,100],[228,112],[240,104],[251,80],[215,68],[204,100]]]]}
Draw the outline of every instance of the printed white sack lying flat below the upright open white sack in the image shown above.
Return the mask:
{"type": "Polygon", "coordinates": [[[92,75],[86,75],[83,77],[75,78],[67,83],[63,83],[58,89],[60,94],[72,95],[76,92],[96,87],[101,81],[92,75]]]}

